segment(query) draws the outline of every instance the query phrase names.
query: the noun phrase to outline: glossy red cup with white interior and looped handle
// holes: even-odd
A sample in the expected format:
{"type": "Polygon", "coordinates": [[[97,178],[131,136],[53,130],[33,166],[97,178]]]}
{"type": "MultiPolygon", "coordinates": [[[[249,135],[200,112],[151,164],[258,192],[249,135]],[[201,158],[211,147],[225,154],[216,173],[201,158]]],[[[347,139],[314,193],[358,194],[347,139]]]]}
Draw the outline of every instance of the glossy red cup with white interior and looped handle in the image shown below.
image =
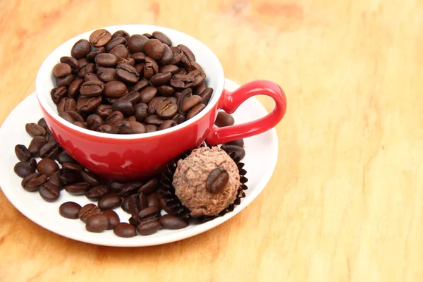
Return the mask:
{"type": "Polygon", "coordinates": [[[225,76],[216,55],[202,42],[177,30],[154,25],[116,25],[104,27],[109,32],[125,30],[130,35],[164,32],[173,46],[185,44],[195,54],[207,75],[205,82],[214,89],[206,108],[188,121],[154,133],[115,135],[98,133],[80,128],[64,120],[51,100],[50,91],[55,87],[53,67],[62,56],[71,56],[71,48],[79,39],[89,39],[92,31],[85,32],[56,48],[37,73],[37,97],[44,118],[57,142],[82,166],[104,178],[129,181],[147,178],[160,173],[164,166],[186,149],[199,146],[204,140],[211,145],[250,137],[273,128],[286,112],[286,96],[275,82],[255,80],[234,92],[223,88],[225,76]],[[217,128],[214,121],[221,109],[232,114],[246,99],[258,95],[274,99],[275,108],[270,114],[256,121],[217,128]]]}

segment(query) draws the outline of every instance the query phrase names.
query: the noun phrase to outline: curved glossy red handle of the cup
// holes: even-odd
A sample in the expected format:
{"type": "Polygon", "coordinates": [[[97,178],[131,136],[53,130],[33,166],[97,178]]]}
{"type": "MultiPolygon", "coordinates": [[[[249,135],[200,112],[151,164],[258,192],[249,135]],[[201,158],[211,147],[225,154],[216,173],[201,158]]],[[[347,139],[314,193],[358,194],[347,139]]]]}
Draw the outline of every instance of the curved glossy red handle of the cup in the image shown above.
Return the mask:
{"type": "Polygon", "coordinates": [[[206,137],[206,142],[209,145],[223,144],[264,133],[264,131],[274,128],[281,121],[286,112],[286,96],[279,85],[269,80],[254,80],[233,92],[223,90],[218,109],[223,109],[226,113],[232,114],[240,104],[255,95],[266,95],[273,98],[276,104],[273,111],[263,118],[248,123],[223,128],[214,125],[206,137]]]}

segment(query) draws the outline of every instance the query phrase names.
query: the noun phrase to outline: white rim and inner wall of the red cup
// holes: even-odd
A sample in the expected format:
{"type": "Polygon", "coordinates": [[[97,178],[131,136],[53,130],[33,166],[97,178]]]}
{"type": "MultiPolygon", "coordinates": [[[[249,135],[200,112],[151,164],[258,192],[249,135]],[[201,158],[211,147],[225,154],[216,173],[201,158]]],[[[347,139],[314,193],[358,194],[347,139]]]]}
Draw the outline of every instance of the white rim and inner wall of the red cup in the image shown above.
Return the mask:
{"type": "MultiPolygon", "coordinates": [[[[113,34],[113,32],[115,32],[115,31],[112,31],[111,33],[113,34]]],[[[170,36],[170,37],[173,37],[173,36],[170,36]]],[[[190,46],[188,46],[188,48],[190,48],[190,46]]],[[[62,44],[59,45],[59,47],[56,47],[56,49],[54,49],[54,51],[52,51],[49,54],[49,56],[47,56],[47,58],[44,59],[44,61],[42,62],[42,65],[40,66],[40,68],[38,70],[37,78],[35,80],[35,92],[37,93],[37,99],[39,101],[39,104],[42,106],[42,109],[44,109],[44,111],[47,111],[47,113],[52,118],[54,118],[54,120],[58,121],[59,123],[65,125],[68,128],[71,128],[73,130],[79,131],[80,133],[83,133],[83,134],[86,134],[86,135],[91,135],[91,136],[94,136],[94,137],[102,137],[102,138],[111,139],[111,140],[136,140],[136,139],[141,139],[141,138],[155,137],[155,136],[165,135],[167,133],[172,133],[173,131],[179,130],[180,128],[191,125],[192,123],[195,123],[198,120],[200,120],[203,116],[208,114],[209,111],[211,111],[212,108],[214,106],[216,106],[216,104],[219,102],[221,94],[223,93],[224,80],[225,80],[225,75],[223,73],[223,67],[222,67],[219,59],[217,58],[216,54],[214,54],[212,49],[209,49],[209,47],[207,47],[207,45],[200,42],[200,40],[196,39],[195,37],[192,37],[191,35],[187,35],[184,32],[180,32],[178,30],[173,30],[173,29],[168,28],[168,27],[161,27],[159,25],[111,25],[109,27],[99,27],[99,28],[96,28],[94,30],[84,32],[80,35],[77,35],[77,36],[71,38],[71,39],[68,39],[66,42],[63,42],[62,44]],[[129,135],[99,133],[97,131],[88,130],[88,129],[85,129],[85,128],[80,128],[79,126],[74,125],[74,124],[66,121],[64,118],[61,118],[61,116],[59,116],[59,114],[57,113],[57,110],[52,109],[51,106],[49,106],[47,99],[51,99],[51,96],[50,96],[51,89],[49,89],[49,90],[44,89],[45,86],[44,86],[43,81],[51,79],[51,71],[52,71],[52,69],[48,68],[47,62],[54,60],[57,63],[59,63],[59,60],[61,58],[61,55],[60,55],[61,49],[65,45],[68,45],[69,53],[70,53],[71,48],[72,48],[73,44],[75,44],[75,42],[77,42],[79,39],[87,39],[88,40],[88,38],[90,37],[92,32],[94,32],[95,30],[105,29],[105,30],[109,30],[109,31],[110,30],[115,30],[115,31],[125,30],[126,31],[128,29],[133,29],[133,28],[139,28],[140,29],[139,34],[149,32],[149,30],[157,30],[157,31],[163,32],[166,35],[170,35],[172,33],[173,35],[176,35],[178,37],[180,37],[180,36],[189,37],[193,42],[195,42],[195,44],[197,44],[199,47],[201,47],[204,50],[204,53],[207,54],[207,56],[209,56],[209,60],[211,61],[211,63],[216,64],[216,68],[217,68],[216,73],[213,73],[213,74],[206,73],[207,76],[214,75],[217,78],[217,83],[216,83],[217,87],[214,87],[212,98],[210,99],[209,104],[207,104],[206,108],[204,108],[199,114],[197,114],[193,118],[190,118],[188,121],[185,121],[181,124],[173,126],[172,128],[159,130],[159,131],[156,131],[156,132],[153,132],[153,133],[140,133],[140,134],[129,134],[129,135]],[[148,31],[142,32],[142,29],[145,29],[145,30],[148,30],[148,31]]]]}

